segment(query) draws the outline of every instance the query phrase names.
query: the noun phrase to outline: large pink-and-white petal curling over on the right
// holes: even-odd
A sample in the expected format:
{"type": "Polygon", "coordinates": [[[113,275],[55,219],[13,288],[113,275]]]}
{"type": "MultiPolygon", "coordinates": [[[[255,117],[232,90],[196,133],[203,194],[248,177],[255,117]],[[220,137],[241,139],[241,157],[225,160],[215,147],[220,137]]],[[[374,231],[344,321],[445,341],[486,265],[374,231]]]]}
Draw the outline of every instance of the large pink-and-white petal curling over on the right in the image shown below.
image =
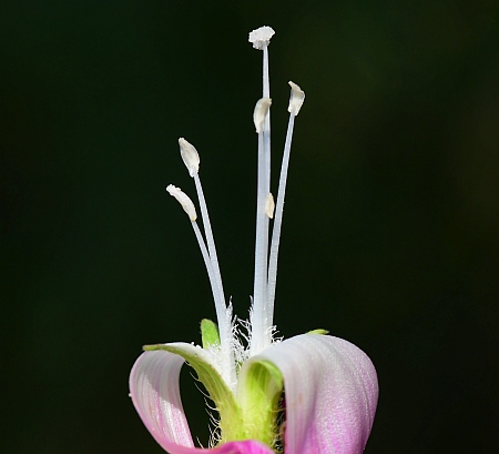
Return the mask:
{"type": "MultiPolygon", "coordinates": [[[[373,426],[378,381],[369,357],[338,337],[303,334],[274,344],[267,360],[284,377],[286,454],[360,454],[373,426]]],[[[244,379],[243,379],[244,380],[244,379]]]]}

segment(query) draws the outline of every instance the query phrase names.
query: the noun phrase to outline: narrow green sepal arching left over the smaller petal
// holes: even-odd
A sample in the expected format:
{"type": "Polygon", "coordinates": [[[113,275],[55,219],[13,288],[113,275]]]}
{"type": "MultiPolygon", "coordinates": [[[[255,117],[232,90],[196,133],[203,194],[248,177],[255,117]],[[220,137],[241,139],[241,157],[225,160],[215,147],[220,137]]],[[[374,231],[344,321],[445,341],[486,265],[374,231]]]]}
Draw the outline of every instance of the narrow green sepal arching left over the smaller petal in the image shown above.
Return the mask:
{"type": "MultiPolygon", "coordinates": [[[[197,379],[203,383],[204,387],[210,394],[210,398],[215,404],[215,410],[220,414],[220,442],[247,440],[244,431],[243,413],[234,396],[234,393],[228,389],[225,381],[222,379],[215,367],[208,363],[202,354],[198,354],[194,349],[183,349],[179,345],[145,345],[145,351],[165,350],[166,352],[182,356],[187,364],[196,371],[197,379]]],[[[203,352],[200,349],[201,352],[203,352]]]]}

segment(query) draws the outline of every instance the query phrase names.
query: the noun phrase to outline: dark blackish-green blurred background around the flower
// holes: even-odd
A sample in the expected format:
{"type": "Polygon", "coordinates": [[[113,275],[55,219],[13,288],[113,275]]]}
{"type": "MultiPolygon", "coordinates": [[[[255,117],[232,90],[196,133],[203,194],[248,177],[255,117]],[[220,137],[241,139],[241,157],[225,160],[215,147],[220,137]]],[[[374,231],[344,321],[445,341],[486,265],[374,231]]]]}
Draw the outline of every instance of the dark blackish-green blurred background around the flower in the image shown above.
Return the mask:
{"type": "MultiPolygon", "coordinates": [[[[147,343],[215,317],[177,138],[201,153],[222,275],[253,289],[261,52],[274,182],[306,92],[275,321],[371,357],[369,454],[498,452],[499,2],[3,1],[0,452],[154,454],[128,397],[147,343]]],[[[273,185],[274,192],[276,185],[273,185]]],[[[186,367],[185,367],[186,369],[186,367]]],[[[190,371],[193,436],[208,420],[190,371]]]]}

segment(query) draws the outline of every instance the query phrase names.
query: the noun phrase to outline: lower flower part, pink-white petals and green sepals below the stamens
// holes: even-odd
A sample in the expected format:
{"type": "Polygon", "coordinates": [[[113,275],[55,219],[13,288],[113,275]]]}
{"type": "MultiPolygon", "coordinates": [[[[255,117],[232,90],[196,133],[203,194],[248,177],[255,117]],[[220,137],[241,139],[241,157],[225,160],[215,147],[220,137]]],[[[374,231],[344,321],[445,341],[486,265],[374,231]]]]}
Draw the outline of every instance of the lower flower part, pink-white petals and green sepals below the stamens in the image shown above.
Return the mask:
{"type": "Polygon", "coordinates": [[[276,422],[271,424],[267,416],[276,417],[272,412],[281,395],[279,375],[286,393],[286,454],[364,451],[373,426],[378,385],[370,360],[347,341],[303,334],[276,343],[244,363],[236,393],[224,385],[204,349],[183,343],[156,347],[161,350],[147,351],[135,362],[130,390],[142,421],[171,454],[200,450],[194,447],[180,397],[179,376],[185,360],[220,411],[222,444],[214,453],[273,452],[271,446],[277,433],[269,441],[268,428],[275,431],[276,422]],[[225,443],[241,440],[258,441],[268,447],[225,443]]]}

